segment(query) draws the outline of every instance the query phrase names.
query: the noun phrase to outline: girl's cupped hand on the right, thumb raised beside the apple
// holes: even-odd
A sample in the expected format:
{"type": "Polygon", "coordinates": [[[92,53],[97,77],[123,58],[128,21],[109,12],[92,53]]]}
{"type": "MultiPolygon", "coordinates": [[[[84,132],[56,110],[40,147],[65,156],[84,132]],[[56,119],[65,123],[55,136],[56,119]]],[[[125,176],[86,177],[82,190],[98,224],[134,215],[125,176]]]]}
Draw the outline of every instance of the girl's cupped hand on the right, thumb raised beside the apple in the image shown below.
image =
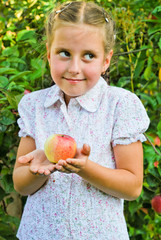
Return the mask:
{"type": "Polygon", "coordinates": [[[84,144],[81,149],[77,149],[75,158],[59,160],[55,169],[64,173],[78,173],[85,168],[90,155],[90,146],[84,144]]]}

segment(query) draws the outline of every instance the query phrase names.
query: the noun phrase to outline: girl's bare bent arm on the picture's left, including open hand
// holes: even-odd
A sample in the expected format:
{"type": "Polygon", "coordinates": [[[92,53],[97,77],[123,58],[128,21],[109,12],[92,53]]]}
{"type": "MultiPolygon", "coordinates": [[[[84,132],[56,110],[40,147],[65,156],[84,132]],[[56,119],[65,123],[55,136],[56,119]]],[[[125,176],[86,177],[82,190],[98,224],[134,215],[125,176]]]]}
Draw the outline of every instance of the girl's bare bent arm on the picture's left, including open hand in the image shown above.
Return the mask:
{"type": "MultiPolygon", "coordinates": [[[[50,173],[46,168],[46,172],[44,172],[44,170],[42,171],[42,173],[45,173],[46,175],[42,176],[34,174],[34,172],[37,173],[38,162],[44,162],[47,160],[43,150],[35,149],[36,146],[33,138],[21,138],[13,170],[13,182],[15,190],[24,196],[33,194],[41,188],[47,181],[48,174],[50,173]]],[[[48,160],[47,164],[49,164],[48,160]]],[[[52,165],[49,164],[48,166],[52,171],[52,165]]],[[[41,173],[41,170],[39,173],[41,173]]]]}

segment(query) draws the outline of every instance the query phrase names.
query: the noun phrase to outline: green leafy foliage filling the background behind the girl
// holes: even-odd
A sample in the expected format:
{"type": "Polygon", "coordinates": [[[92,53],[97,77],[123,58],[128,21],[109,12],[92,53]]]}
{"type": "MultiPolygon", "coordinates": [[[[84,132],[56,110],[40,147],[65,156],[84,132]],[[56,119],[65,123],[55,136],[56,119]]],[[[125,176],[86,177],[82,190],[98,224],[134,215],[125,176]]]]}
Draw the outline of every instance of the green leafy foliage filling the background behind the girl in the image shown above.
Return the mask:
{"type": "MultiPolygon", "coordinates": [[[[16,202],[25,202],[15,197],[12,182],[19,143],[17,106],[25,90],[51,85],[44,25],[57,2],[65,1],[2,0],[0,6],[0,240],[16,239],[22,212],[16,202]]],[[[161,154],[161,1],[95,2],[109,9],[116,22],[110,83],[140,97],[151,120],[147,136],[161,154]]],[[[143,147],[143,191],[136,201],[125,202],[125,217],[131,239],[158,240],[161,216],[152,209],[151,199],[161,194],[161,157],[148,142],[143,147]]]]}

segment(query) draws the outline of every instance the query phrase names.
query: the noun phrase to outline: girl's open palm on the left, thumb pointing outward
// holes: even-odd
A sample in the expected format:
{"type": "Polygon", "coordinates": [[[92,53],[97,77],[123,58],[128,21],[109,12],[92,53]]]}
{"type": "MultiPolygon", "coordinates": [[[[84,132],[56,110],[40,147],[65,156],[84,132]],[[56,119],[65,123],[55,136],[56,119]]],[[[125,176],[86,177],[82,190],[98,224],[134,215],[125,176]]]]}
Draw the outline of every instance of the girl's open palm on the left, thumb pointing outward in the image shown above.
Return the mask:
{"type": "Polygon", "coordinates": [[[50,175],[54,172],[55,165],[49,162],[43,150],[37,149],[18,158],[22,164],[29,163],[29,170],[33,174],[50,175]]]}

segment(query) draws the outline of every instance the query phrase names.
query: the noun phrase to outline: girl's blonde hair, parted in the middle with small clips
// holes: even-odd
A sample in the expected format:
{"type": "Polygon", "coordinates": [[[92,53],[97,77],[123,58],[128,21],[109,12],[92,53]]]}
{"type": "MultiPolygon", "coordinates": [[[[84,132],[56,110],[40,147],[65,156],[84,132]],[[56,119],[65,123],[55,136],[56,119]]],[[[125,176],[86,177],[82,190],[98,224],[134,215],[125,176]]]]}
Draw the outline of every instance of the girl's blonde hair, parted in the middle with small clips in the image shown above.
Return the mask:
{"type": "Polygon", "coordinates": [[[102,28],[105,53],[108,53],[114,46],[114,22],[103,8],[93,2],[73,1],[62,4],[51,11],[46,25],[49,49],[54,39],[54,31],[61,24],[88,24],[102,28]]]}

